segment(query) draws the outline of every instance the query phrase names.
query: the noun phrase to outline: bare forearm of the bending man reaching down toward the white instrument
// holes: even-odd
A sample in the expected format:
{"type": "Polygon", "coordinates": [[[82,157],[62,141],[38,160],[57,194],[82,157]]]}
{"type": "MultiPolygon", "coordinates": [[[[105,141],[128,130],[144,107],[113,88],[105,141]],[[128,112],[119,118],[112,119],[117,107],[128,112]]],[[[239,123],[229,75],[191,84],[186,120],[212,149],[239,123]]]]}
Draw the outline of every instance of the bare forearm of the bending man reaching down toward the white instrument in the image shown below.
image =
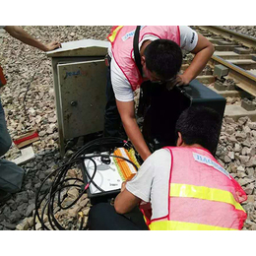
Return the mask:
{"type": "Polygon", "coordinates": [[[123,102],[116,99],[116,105],[127,136],[141,158],[146,160],[151,155],[151,152],[137,124],[134,113],[134,101],[123,102]]]}

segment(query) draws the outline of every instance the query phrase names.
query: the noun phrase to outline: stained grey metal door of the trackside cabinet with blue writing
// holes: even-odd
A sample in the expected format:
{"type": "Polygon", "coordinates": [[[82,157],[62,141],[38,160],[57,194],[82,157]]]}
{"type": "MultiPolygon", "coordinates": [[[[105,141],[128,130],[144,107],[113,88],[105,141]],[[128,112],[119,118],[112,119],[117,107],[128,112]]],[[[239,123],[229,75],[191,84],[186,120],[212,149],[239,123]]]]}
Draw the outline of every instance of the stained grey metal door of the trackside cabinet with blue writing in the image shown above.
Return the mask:
{"type": "Polygon", "coordinates": [[[104,60],[58,64],[57,70],[64,139],[102,131],[106,103],[104,60]]]}

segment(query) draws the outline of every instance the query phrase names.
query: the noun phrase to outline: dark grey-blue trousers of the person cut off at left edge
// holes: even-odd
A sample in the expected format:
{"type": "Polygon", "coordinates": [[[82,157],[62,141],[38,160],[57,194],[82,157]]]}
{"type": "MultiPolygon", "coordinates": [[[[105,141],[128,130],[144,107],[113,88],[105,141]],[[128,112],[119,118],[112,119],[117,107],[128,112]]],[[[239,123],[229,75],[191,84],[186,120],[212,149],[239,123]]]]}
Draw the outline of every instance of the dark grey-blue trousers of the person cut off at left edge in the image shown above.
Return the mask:
{"type": "MultiPolygon", "coordinates": [[[[4,156],[12,145],[7,130],[5,113],[0,99],[0,157],[4,156]]],[[[9,160],[0,159],[0,190],[15,193],[22,187],[24,169],[9,160]]]]}

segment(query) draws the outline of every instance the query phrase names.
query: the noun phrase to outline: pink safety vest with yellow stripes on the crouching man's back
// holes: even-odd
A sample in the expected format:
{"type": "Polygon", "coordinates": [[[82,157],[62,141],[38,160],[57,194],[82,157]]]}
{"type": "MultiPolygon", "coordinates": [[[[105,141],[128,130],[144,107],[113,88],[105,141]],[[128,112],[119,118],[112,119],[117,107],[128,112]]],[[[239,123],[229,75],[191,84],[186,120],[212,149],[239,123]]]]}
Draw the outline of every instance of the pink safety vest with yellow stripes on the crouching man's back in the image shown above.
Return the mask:
{"type": "MultiPolygon", "coordinates": [[[[247,215],[241,186],[207,150],[165,148],[171,155],[168,214],[146,223],[151,230],[238,230],[247,215]]],[[[142,210],[144,213],[144,211],[142,210]]]]}

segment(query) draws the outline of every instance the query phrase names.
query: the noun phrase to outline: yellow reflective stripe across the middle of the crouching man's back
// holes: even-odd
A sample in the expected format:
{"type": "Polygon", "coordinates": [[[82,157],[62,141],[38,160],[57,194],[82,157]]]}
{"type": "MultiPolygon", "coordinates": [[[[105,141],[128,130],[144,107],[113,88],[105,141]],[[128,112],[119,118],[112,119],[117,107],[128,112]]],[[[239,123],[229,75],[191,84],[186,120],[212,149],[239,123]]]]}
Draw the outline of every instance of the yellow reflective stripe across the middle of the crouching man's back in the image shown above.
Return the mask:
{"type": "Polygon", "coordinates": [[[169,195],[171,197],[192,197],[210,201],[223,202],[233,205],[234,208],[237,210],[245,212],[241,205],[235,201],[232,193],[222,189],[171,183],[169,195]]]}

